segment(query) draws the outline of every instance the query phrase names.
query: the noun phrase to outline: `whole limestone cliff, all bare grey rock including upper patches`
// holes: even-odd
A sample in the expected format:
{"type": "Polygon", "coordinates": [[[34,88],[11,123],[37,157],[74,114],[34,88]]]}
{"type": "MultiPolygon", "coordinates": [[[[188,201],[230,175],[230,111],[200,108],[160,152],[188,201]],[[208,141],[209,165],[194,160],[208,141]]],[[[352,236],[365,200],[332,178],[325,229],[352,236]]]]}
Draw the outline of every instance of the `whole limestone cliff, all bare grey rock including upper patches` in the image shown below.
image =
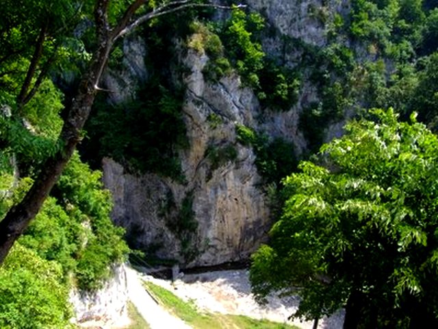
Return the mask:
{"type": "MultiPolygon", "coordinates": [[[[318,47],[324,45],[324,20],[334,12],[348,10],[345,0],[246,2],[252,10],[264,14],[274,29],[263,44],[272,53],[280,51],[281,45],[276,42],[282,36],[300,38],[318,47]]],[[[143,83],[148,75],[142,62],[147,49],[140,38],[127,38],[123,51],[127,54],[123,67],[105,75],[113,103],[133,97],[133,86],[143,83]]],[[[238,143],[235,127],[252,127],[270,138],[281,136],[294,144],[299,156],[307,149],[298,127],[300,111],[318,101],[318,95],[315,87],[304,80],[298,101],[289,110],[262,109],[238,75],[209,82],[203,75],[209,60],[205,54],[180,49],[177,56],[188,71],[183,81],[183,113],[190,147],[179,151],[186,184],[152,173],[133,175],[105,158],[103,180],[114,195],[113,219],[127,228],[131,245],[159,258],[189,266],[246,259],[266,239],[270,210],[255,166],[255,153],[252,147],[238,143]],[[209,157],[212,150],[218,154],[216,160],[209,157]],[[227,157],[227,150],[235,156],[227,157]],[[181,221],[187,221],[185,230],[178,229],[181,221]]],[[[288,53],[283,64],[294,66],[298,56],[300,53],[288,53]]],[[[333,125],[328,132],[335,136],[341,127],[333,125]]]]}

